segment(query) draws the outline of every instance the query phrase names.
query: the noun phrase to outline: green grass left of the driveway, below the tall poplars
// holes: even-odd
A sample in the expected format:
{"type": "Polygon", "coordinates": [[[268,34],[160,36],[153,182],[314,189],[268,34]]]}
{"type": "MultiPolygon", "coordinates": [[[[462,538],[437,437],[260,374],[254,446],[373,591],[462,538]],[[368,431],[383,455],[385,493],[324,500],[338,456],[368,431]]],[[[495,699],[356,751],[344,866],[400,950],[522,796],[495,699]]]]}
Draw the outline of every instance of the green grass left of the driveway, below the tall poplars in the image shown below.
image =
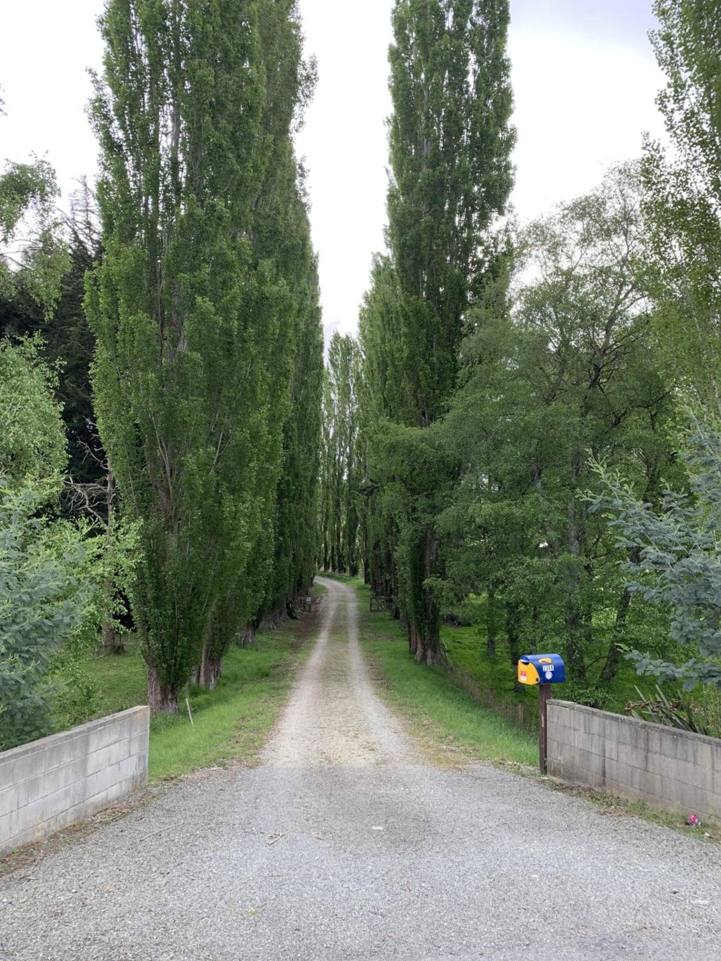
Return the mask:
{"type": "MultiPolygon", "coordinates": [[[[323,589],[311,592],[318,596],[323,589]]],[[[246,648],[224,658],[213,691],[189,685],[181,713],[162,715],[150,725],[151,780],[187,774],[230,761],[254,763],[286,702],[294,667],[309,653],[315,613],[303,614],[275,630],[259,633],[246,648]],[[187,716],[186,696],[193,724],[187,716]]],[[[137,645],[127,653],[93,658],[90,673],[101,693],[98,716],[146,703],[145,666],[137,645]]]]}

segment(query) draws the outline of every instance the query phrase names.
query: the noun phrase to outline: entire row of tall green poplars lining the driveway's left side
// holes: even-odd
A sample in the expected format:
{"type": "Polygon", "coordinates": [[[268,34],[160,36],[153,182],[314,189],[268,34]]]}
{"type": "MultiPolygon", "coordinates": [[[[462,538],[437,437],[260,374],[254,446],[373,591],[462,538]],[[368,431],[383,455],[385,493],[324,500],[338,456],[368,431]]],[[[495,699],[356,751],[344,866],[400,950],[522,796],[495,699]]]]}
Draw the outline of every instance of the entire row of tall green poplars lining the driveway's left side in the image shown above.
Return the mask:
{"type": "Polygon", "coordinates": [[[141,521],[131,596],[155,711],[177,710],[193,666],[211,686],[263,598],[311,576],[320,324],[290,143],[312,75],[294,12],[112,0],[102,20],[106,253],[87,312],[98,425],[141,521]]]}

